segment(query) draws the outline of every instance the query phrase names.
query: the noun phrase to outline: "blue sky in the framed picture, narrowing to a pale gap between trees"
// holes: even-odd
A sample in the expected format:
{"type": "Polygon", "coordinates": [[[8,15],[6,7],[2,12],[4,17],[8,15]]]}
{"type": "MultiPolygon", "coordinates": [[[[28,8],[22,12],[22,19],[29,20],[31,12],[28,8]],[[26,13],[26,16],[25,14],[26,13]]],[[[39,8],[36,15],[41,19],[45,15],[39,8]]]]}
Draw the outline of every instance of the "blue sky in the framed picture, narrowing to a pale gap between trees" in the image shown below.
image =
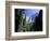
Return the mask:
{"type": "MultiPolygon", "coordinates": [[[[28,18],[32,16],[32,15],[38,15],[39,14],[39,11],[38,9],[25,9],[25,14],[26,14],[26,20],[28,22],[28,18]]],[[[32,22],[32,20],[30,20],[32,22]]]]}

